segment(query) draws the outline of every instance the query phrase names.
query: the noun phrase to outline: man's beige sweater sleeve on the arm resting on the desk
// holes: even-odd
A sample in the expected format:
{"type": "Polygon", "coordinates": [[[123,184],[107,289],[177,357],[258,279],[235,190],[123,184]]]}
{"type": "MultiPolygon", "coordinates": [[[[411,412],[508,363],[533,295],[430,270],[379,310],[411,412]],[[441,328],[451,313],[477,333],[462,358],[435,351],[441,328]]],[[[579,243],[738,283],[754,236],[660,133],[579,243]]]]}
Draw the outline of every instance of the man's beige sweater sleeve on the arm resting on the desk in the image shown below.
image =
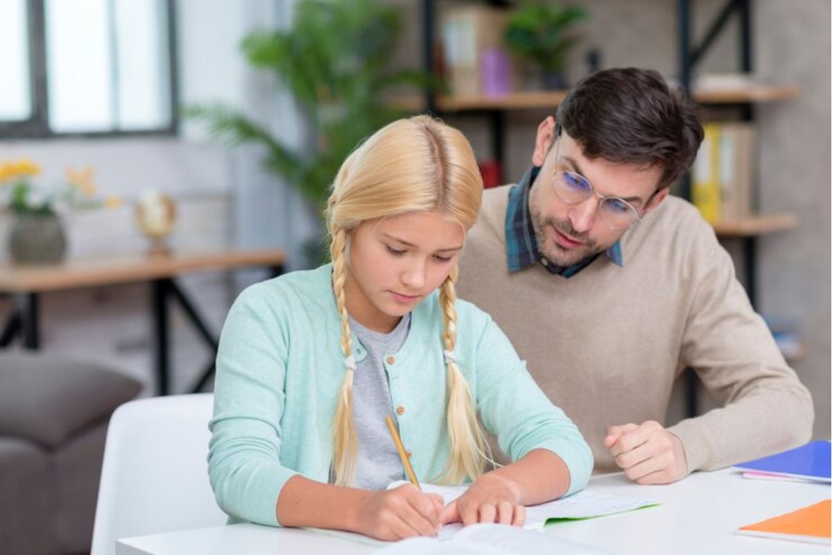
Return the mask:
{"type": "Polygon", "coordinates": [[[814,420],[809,391],[751,307],[730,256],[711,229],[696,235],[691,268],[696,289],[681,364],[696,371],[722,406],[670,428],[685,447],[689,472],[804,444],[814,420]]]}

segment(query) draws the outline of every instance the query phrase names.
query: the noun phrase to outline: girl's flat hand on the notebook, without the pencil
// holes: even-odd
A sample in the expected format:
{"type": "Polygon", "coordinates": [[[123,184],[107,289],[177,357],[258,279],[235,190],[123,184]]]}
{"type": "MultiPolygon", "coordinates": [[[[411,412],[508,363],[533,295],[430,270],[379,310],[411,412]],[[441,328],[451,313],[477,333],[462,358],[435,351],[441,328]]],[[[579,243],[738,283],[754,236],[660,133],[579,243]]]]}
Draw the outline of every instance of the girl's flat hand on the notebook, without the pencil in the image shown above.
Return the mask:
{"type": "Polygon", "coordinates": [[[465,493],[443,509],[442,523],[522,526],[526,523],[526,508],[520,503],[520,488],[498,474],[483,474],[465,493]]]}

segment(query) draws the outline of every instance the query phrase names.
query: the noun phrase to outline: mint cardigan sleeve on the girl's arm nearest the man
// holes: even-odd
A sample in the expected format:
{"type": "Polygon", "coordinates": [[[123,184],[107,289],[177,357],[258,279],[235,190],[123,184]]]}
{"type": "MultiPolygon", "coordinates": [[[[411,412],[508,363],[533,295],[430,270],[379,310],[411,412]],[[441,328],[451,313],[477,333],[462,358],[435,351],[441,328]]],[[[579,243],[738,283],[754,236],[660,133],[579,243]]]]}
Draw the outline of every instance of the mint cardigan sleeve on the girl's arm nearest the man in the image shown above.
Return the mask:
{"type": "Polygon", "coordinates": [[[478,414],[497,436],[503,453],[517,461],[532,449],[547,449],[566,463],[567,495],[587,486],[592,473],[587,442],[572,420],[537,387],[526,363],[490,318],[477,345],[476,383],[478,414]]]}

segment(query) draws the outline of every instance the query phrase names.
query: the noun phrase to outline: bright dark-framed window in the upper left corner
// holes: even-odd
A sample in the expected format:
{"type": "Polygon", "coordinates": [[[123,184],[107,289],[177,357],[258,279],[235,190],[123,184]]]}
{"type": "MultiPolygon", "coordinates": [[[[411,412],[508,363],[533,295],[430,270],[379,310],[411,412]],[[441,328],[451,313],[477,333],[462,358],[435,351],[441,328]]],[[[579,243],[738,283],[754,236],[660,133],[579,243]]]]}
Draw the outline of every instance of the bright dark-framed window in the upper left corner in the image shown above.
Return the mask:
{"type": "Polygon", "coordinates": [[[0,136],[176,131],[171,0],[2,0],[0,136]]]}

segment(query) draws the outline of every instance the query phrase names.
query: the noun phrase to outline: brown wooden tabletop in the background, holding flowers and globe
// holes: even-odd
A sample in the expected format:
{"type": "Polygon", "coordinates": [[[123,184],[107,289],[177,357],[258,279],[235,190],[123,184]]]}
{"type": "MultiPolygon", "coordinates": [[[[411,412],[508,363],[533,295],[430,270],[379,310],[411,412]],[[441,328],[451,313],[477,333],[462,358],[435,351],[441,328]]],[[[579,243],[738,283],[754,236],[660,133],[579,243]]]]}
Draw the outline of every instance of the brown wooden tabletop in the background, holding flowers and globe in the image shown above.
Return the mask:
{"type": "Polygon", "coordinates": [[[67,260],[56,265],[0,266],[0,292],[38,293],[156,280],[199,270],[234,270],[250,266],[277,266],[286,259],[283,250],[218,249],[173,251],[168,255],[123,255],[67,260]]]}

